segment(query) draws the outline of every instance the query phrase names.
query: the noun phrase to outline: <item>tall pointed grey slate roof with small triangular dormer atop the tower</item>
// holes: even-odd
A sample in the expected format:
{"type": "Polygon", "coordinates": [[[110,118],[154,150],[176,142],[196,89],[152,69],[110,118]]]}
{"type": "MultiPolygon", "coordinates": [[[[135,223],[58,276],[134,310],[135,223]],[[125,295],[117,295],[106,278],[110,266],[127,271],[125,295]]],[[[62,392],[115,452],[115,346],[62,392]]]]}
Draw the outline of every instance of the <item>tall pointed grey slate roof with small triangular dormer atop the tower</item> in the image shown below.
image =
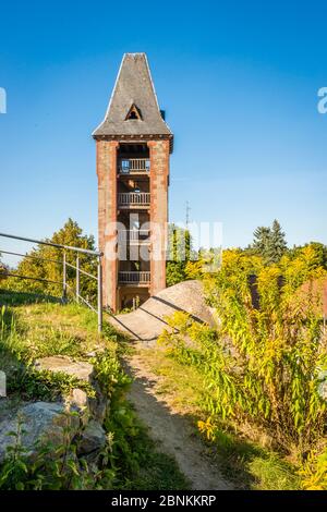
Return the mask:
{"type": "Polygon", "coordinates": [[[137,135],[173,136],[162,119],[146,54],[124,53],[105,119],[93,136],[137,135]],[[132,108],[140,112],[138,119],[126,119],[132,108]]]}

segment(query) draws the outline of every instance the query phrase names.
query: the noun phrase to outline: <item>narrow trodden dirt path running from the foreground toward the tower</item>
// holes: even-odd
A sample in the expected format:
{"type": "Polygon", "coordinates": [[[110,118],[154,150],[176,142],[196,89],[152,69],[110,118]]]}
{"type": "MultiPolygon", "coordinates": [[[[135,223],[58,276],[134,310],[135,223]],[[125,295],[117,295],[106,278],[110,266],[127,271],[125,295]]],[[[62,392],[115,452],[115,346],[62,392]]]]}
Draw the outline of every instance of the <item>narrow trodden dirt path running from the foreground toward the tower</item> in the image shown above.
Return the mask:
{"type": "Polygon", "coordinates": [[[173,456],[194,490],[227,490],[232,485],[219,473],[205,454],[205,448],[194,432],[194,425],[173,411],[162,394],[157,393],[158,376],[144,367],[135,353],[125,358],[126,370],[134,377],[129,399],[138,417],[147,425],[149,436],[159,449],[173,456]]]}

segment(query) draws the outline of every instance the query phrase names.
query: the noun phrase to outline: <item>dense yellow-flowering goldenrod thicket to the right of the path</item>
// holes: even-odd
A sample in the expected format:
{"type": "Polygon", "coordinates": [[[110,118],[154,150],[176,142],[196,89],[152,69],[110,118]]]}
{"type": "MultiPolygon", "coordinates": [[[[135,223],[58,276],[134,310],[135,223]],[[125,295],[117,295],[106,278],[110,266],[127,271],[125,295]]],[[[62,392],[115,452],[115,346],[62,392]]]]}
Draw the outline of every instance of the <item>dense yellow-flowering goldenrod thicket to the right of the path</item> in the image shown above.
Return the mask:
{"type": "Polygon", "coordinates": [[[183,313],[170,319],[174,329],[161,341],[180,361],[201,368],[207,383],[208,420],[201,428],[208,437],[221,422],[237,429],[252,425],[299,463],[324,451],[327,272],[318,256],[311,244],[265,265],[262,256],[226,251],[221,270],[205,278],[217,329],[183,313]]]}

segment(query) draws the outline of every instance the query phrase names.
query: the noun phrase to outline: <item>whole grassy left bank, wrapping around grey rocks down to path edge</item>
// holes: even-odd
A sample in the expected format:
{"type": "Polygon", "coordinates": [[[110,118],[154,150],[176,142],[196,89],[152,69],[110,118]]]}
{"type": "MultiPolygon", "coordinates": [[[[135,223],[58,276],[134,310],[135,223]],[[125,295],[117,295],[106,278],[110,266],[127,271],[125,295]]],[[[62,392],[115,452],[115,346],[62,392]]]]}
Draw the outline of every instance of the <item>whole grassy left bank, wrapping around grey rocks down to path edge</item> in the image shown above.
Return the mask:
{"type": "MultiPolygon", "coordinates": [[[[157,450],[146,428],[138,422],[125,400],[130,379],[122,371],[118,361],[118,355],[126,350],[126,344],[120,345],[123,341],[121,334],[107,324],[104,326],[104,332],[98,334],[97,318],[93,312],[76,304],[47,302],[35,294],[0,292],[0,369],[7,374],[9,405],[17,407],[21,400],[57,401],[75,387],[92,392],[85,382],[63,374],[35,371],[34,361],[50,355],[64,355],[93,363],[102,391],[110,397],[110,413],[104,425],[110,438],[105,455],[107,463],[101,468],[104,478],[101,472],[98,472],[95,483],[92,474],[84,475],[81,468],[75,468],[78,475],[71,479],[72,468],[68,467],[68,474],[58,475],[58,472],[53,473],[48,467],[44,488],[66,489],[68,481],[73,485],[74,478],[74,485],[77,487],[70,488],[189,488],[189,483],[180,473],[175,461],[157,450]],[[96,356],[90,357],[94,354],[96,356]]],[[[0,410],[0,419],[4,417],[5,411],[0,410]]],[[[23,475],[24,485],[27,486],[25,488],[34,489],[35,475],[31,473],[28,461],[25,462],[28,471],[23,475]],[[29,477],[32,480],[26,481],[29,477]]],[[[43,471],[40,474],[43,475],[43,471]]],[[[17,484],[23,488],[20,475],[17,484]]]]}

